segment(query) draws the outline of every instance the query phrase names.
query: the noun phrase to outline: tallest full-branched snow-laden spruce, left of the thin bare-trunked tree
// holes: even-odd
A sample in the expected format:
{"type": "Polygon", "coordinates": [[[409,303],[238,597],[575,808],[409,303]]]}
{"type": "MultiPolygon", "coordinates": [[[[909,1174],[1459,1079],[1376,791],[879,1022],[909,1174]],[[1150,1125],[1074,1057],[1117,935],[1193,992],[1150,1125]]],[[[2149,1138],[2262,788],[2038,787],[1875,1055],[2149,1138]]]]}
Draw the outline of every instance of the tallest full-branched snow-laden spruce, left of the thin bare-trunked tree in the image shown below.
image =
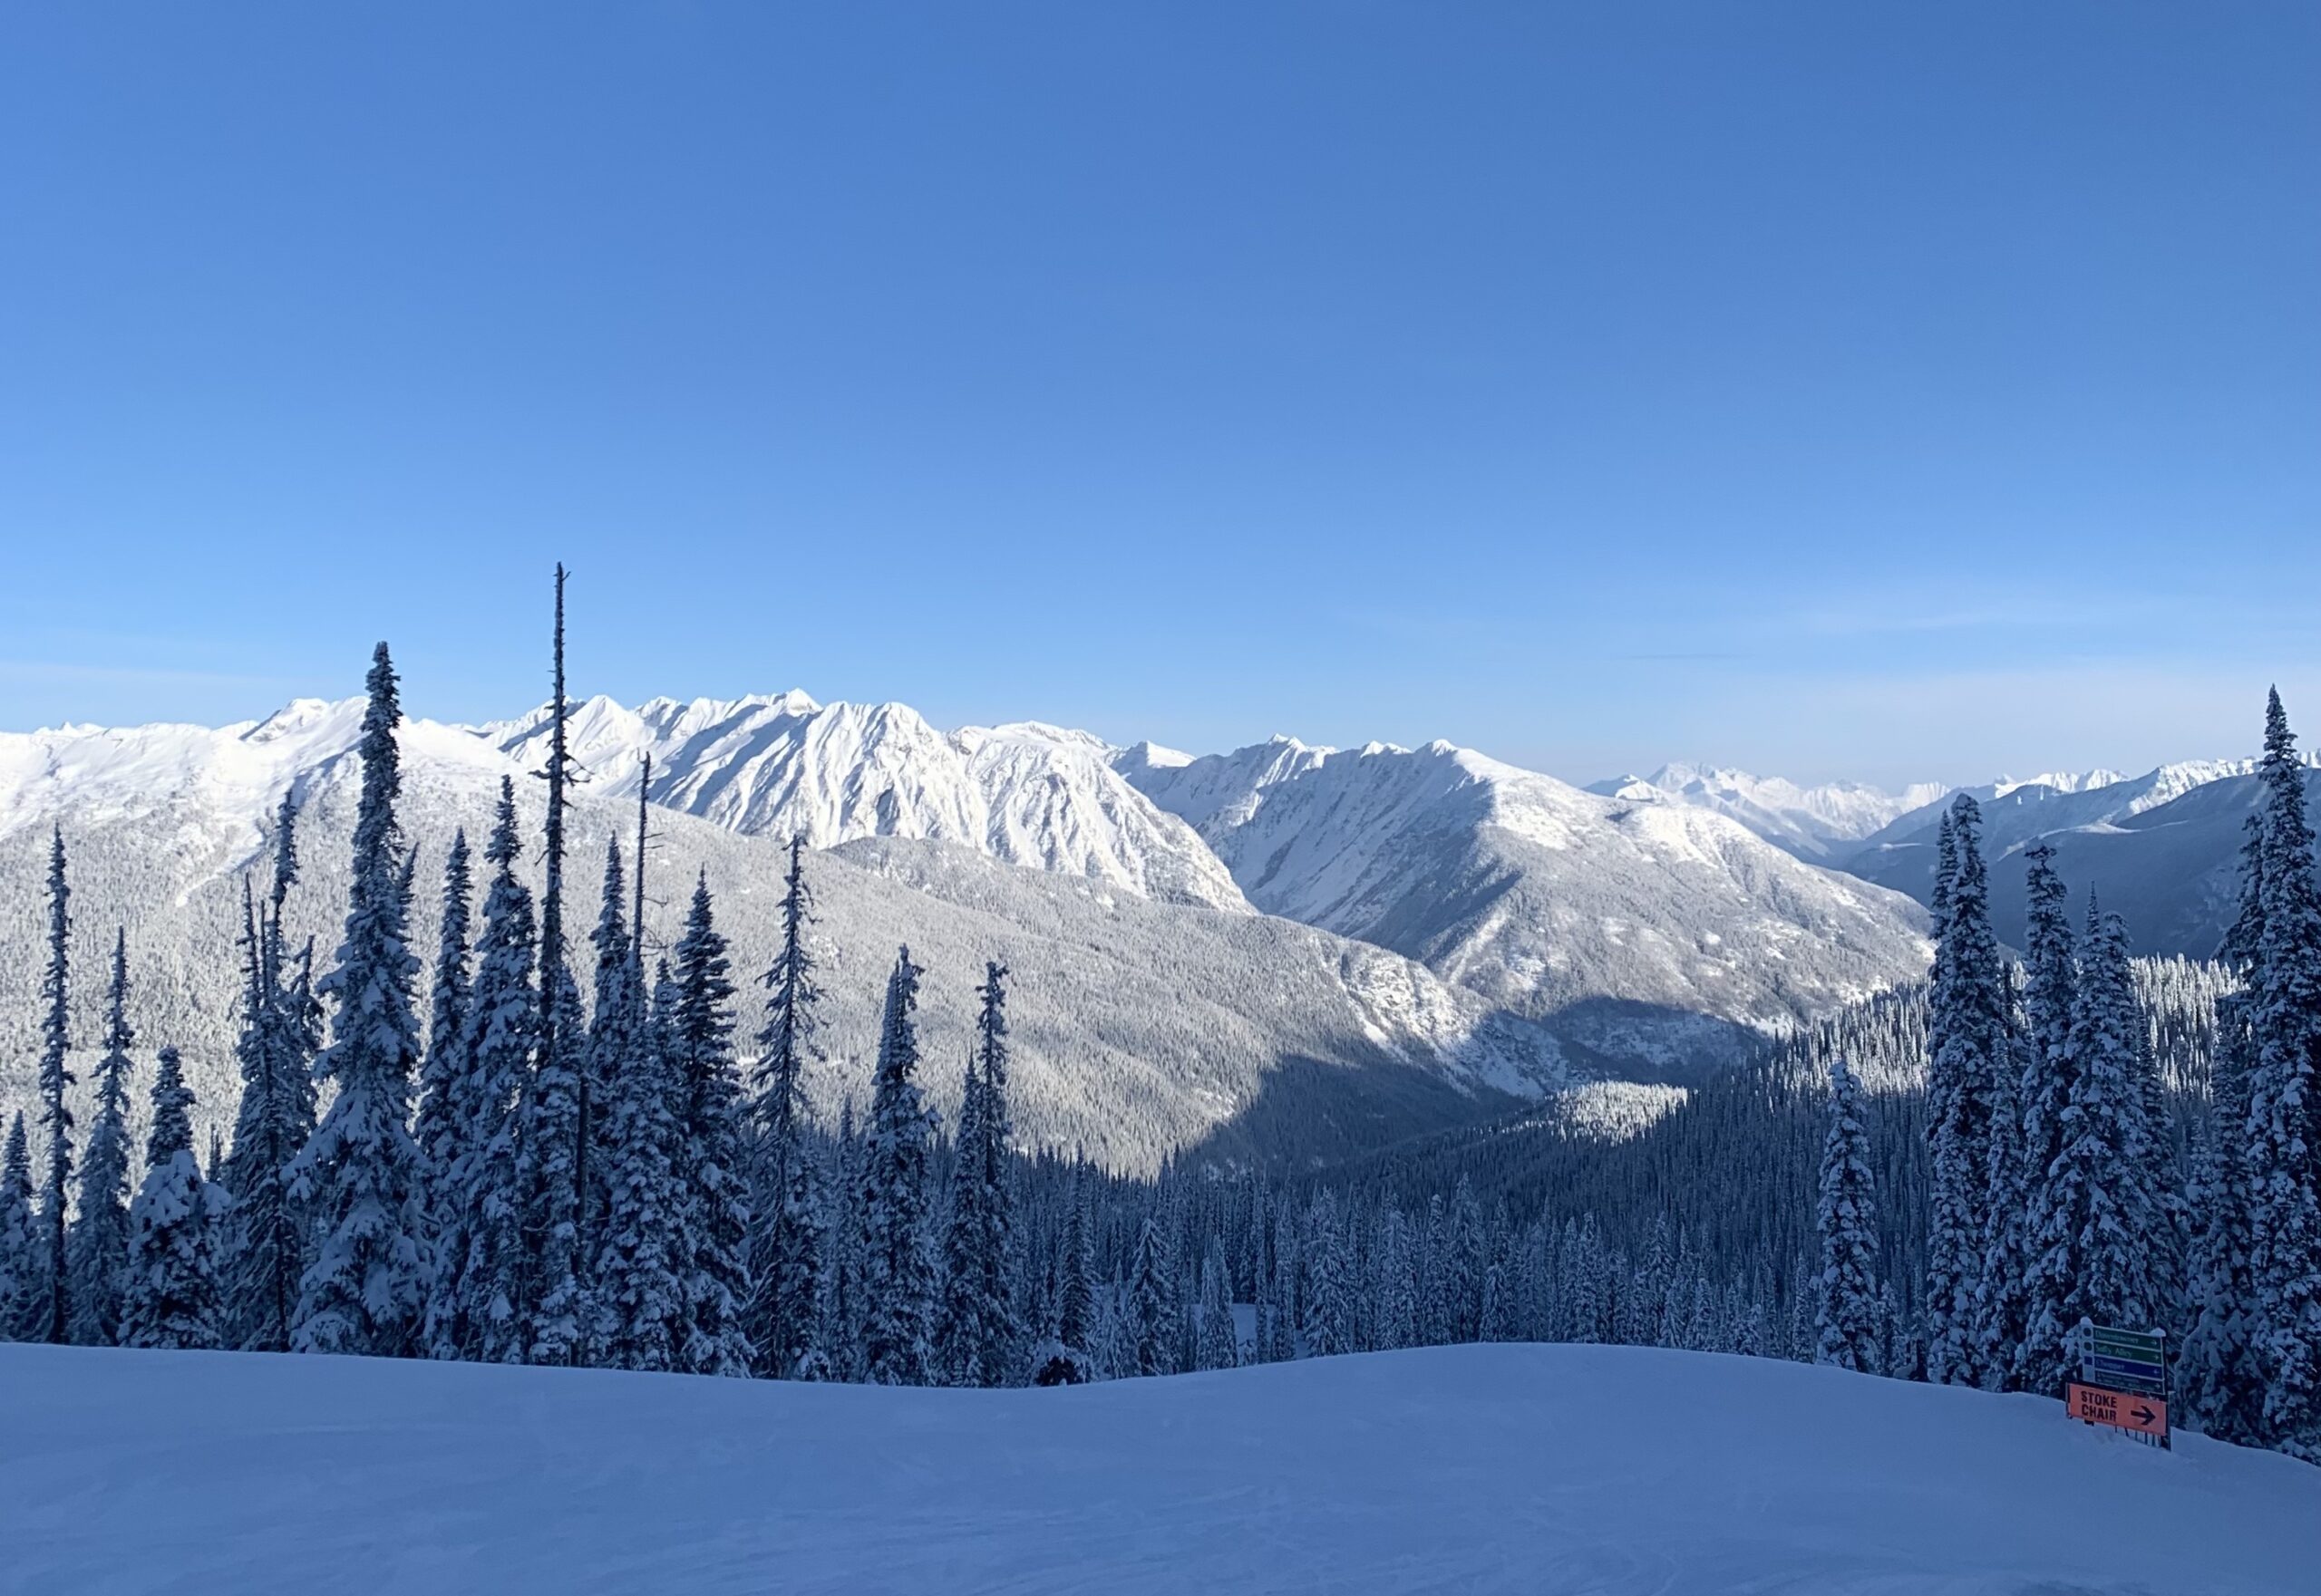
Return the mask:
{"type": "Polygon", "coordinates": [[[346,933],[320,993],[334,1004],[316,1076],[337,1086],[330,1111],[292,1165],[292,1197],[311,1204],[318,1243],[299,1283],[290,1343],[302,1352],[408,1357],[427,1308],[425,1171],[411,1141],[418,1018],[411,984],[411,895],[395,803],[402,705],[381,643],[362,714],[362,798],[346,933]]]}

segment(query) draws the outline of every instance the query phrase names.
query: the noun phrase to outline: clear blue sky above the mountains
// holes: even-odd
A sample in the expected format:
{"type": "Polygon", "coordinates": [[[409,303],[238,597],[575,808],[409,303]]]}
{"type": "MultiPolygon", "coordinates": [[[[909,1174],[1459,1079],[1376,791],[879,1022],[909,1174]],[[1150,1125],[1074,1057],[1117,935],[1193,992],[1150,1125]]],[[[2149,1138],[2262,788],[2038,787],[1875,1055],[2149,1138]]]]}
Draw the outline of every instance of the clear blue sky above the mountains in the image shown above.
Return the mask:
{"type": "Polygon", "coordinates": [[[19,5],[0,726],[2321,733],[2321,7],[19,5]]]}

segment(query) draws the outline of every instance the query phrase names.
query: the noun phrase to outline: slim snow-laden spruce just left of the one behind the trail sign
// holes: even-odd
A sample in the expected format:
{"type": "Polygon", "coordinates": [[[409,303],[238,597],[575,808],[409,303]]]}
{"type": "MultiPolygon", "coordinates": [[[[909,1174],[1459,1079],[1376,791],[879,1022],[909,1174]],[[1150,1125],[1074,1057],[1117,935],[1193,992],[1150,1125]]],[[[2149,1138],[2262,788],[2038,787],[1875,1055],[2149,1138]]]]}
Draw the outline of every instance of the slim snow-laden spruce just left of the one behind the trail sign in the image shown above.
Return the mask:
{"type": "Polygon", "coordinates": [[[2054,872],[2054,847],[2038,842],[2024,851],[2024,1035],[2022,1035],[2022,1213],[2024,1213],[2024,1339],[2015,1352],[2015,1390],[2061,1394],[2068,1348],[2052,1336],[2070,1327],[2059,1292],[2066,1281],[2040,1271],[2040,1236],[2066,1220],[2052,1209],[2063,1195],[2054,1185],[2063,1151],[2063,1111],[2070,1107],[2070,1018],[2077,1009],[2080,967],[2070,935],[2068,891],[2054,872]],[[2040,1334],[2038,1327],[2047,1327],[2040,1334]]]}

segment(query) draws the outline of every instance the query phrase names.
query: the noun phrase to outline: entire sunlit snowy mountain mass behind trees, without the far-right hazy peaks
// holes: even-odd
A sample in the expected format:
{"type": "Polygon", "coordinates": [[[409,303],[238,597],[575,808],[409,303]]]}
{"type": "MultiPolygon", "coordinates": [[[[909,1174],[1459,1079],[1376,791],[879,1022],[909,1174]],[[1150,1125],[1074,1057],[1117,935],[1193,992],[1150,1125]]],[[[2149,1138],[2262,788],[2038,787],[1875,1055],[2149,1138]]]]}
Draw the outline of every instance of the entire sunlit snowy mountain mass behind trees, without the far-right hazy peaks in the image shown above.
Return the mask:
{"type": "MultiPolygon", "coordinates": [[[[234,1028],[239,879],[302,803],[292,928],[344,912],[357,701],[265,721],[0,735],[0,923],[39,935],[49,824],[72,844],[79,1037],[125,923],[149,1044],[188,1049],[216,1111],[234,1028]]],[[[518,777],[536,814],[543,712],[402,731],[415,946],[455,828],[518,777]]],[[[905,705],[576,703],[571,882],[652,782],[650,921],[706,872],[740,970],[771,956],[780,842],[822,849],[826,1113],[866,1088],[877,984],[928,965],[938,1104],[956,1095],[984,958],[1017,977],[1019,1127],[1116,1167],[1212,1151],[1325,1155],[1499,1113],[1574,1081],[1680,1081],[1750,1037],[1915,979],[1922,912],[1736,819],[1585,793],[1444,742],[1191,759],[1040,724],[938,731],[905,705]]],[[[536,863],[536,861],[534,861],[536,863]]],[[[0,1104],[30,1090],[37,960],[0,960],[0,1104]]]]}

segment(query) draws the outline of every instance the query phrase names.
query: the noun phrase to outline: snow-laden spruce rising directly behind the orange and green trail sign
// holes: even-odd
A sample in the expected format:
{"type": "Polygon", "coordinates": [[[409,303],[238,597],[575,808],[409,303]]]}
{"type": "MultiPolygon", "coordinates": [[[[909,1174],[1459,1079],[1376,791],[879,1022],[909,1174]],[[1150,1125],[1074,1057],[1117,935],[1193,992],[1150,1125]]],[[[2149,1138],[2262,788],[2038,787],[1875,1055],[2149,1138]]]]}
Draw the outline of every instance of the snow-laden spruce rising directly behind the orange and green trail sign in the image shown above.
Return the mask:
{"type": "Polygon", "coordinates": [[[2135,977],[2128,933],[2087,895],[2087,940],[2070,1018],[2070,1102],[2061,1151],[2040,1202],[2026,1343],[2038,1366],[2063,1366],[2080,1320],[2152,1329],[2149,1236],[2159,1211],[2147,1188],[2147,1137],[2135,1090],[2135,977]]]}

